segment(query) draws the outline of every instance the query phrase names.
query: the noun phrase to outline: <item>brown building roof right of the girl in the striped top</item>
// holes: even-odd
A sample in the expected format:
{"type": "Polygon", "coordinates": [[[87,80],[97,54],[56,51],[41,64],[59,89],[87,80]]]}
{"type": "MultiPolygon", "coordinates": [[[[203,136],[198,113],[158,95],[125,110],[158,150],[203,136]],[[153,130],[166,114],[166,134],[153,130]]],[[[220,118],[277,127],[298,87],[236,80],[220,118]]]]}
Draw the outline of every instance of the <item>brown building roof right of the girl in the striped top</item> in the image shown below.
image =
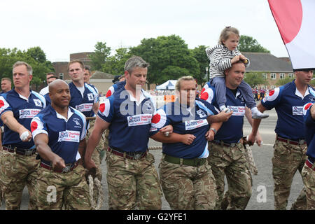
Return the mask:
{"type": "Polygon", "coordinates": [[[241,52],[241,54],[251,62],[246,71],[293,72],[290,62],[286,62],[270,53],[241,52]]]}

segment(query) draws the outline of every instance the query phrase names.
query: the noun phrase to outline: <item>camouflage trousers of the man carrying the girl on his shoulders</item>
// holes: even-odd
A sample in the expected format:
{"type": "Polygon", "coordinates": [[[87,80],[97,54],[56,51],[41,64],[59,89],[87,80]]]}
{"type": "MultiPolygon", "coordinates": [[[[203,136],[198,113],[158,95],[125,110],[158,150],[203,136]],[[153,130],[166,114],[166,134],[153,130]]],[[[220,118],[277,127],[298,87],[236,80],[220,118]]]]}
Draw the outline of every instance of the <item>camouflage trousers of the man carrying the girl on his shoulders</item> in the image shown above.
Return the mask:
{"type": "Polygon", "coordinates": [[[245,209],[251,198],[253,183],[243,144],[225,147],[209,142],[209,153],[208,162],[216,179],[218,193],[216,209],[245,209]],[[228,181],[228,192],[224,194],[225,175],[228,181]]]}

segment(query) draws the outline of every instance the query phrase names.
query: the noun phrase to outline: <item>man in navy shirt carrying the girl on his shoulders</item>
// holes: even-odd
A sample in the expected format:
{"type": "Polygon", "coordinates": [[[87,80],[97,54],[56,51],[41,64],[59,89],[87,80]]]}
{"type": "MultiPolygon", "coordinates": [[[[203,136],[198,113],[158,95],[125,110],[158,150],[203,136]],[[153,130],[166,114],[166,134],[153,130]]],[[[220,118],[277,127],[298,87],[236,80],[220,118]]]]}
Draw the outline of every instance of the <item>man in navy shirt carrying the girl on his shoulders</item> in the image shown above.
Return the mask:
{"type": "MultiPolygon", "coordinates": [[[[243,137],[244,116],[251,111],[246,107],[244,98],[238,89],[244,78],[245,65],[239,61],[225,70],[227,107],[232,116],[223,123],[214,141],[209,142],[209,165],[216,178],[218,201],[216,209],[246,209],[251,198],[251,173],[248,170],[243,137]],[[224,194],[226,176],[228,191],[224,194]]],[[[201,99],[218,106],[213,86],[205,90],[201,99]]],[[[246,116],[251,118],[251,116],[246,116]]]]}

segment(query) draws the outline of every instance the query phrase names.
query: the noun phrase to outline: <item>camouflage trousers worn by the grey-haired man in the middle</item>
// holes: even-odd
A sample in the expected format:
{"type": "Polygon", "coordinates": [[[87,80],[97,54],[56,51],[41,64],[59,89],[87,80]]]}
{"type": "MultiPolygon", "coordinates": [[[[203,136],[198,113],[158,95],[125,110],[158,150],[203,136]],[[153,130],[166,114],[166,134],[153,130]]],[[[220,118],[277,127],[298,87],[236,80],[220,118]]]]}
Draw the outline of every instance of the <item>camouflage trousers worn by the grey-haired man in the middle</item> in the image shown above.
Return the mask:
{"type": "Polygon", "coordinates": [[[109,209],[161,209],[162,190],[154,162],[151,153],[139,160],[130,160],[106,152],[109,209]]]}

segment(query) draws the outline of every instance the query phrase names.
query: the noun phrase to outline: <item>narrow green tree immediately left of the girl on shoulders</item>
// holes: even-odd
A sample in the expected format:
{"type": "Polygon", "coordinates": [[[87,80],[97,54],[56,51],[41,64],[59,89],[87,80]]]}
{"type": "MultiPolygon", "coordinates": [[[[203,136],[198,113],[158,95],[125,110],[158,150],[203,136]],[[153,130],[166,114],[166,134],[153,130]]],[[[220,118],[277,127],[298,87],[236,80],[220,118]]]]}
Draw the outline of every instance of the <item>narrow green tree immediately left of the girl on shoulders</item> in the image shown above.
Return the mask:
{"type": "Polygon", "coordinates": [[[195,78],[197,78],[197,82],[201,86],[204,86],[204,84],[208,80],[208,77],[205,77],[206,68],[209,68],[209,59],[206,53],[207,48],[208,47],[206,47],[205,45],[200,45],[197,48],[191,50],[191,52],[193,52],[193,57],[195,57],[199,64],[199,71],[195,78]]]}

